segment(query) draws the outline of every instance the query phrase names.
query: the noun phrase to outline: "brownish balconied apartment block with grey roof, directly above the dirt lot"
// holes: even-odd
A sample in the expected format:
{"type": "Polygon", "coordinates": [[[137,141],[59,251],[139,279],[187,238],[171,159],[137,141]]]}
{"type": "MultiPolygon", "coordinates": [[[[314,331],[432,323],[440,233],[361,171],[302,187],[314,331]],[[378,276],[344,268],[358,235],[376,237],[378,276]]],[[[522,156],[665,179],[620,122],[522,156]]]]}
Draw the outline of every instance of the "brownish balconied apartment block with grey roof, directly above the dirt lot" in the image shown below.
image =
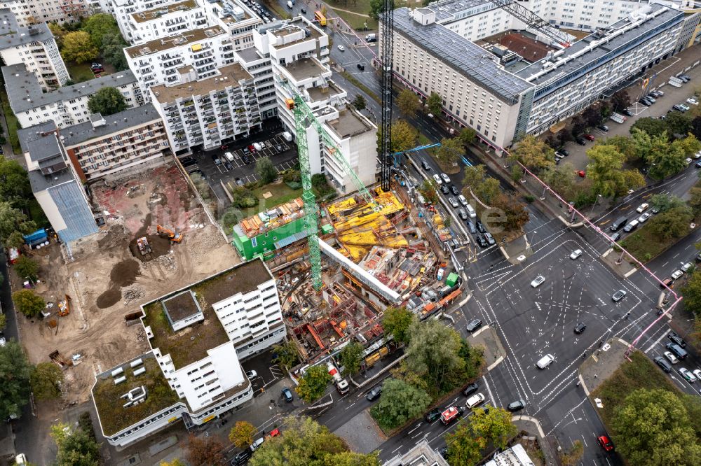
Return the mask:
{"type": "Polygon", "coordinates": [[[60,141],[83,182],[157,167],[170,153],[163,119],[151,104],[90,115],[90,121],[61,129],[60,141]]]}

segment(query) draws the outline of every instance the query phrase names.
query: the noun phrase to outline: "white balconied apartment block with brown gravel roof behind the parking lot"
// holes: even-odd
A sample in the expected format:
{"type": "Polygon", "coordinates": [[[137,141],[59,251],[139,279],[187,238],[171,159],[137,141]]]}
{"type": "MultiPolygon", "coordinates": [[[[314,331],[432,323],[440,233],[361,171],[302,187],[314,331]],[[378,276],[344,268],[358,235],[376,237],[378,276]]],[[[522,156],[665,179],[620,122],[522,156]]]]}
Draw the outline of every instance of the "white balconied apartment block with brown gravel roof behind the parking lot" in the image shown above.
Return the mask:
{"type": "Polygon", "coordinates": [[[253,76],[238,63],[215,72],[196,79],[196,71],[185,67],[179,70],[178,84],[149,90],[175,153],[193,146],[215,148],[224,139],[245,137],[253,127],[261,127],[253,76]]]}

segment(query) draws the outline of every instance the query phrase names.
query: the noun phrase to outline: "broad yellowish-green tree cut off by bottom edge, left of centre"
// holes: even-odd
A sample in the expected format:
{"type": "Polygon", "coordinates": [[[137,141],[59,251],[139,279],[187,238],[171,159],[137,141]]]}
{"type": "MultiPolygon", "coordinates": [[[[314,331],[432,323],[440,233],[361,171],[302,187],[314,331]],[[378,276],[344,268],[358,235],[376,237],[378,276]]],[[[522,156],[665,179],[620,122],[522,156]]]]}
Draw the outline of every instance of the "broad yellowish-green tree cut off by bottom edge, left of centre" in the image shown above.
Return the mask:
{"type": "Polygon", "coordinates": [[[351,453],[341,437],[311,418],[290,416],[280,430],[259,446],[250,466],[379,466],[374,453],[351,453]]]}

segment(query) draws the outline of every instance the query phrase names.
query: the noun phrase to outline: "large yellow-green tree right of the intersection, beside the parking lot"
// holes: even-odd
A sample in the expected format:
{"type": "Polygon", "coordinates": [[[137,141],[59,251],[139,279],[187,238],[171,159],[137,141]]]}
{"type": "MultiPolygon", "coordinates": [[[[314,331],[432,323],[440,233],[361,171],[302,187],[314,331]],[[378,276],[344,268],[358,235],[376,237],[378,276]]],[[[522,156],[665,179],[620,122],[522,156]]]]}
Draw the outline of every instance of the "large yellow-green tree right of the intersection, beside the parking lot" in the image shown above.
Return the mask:
{"type": "Polygon", "coordinates": [[[596,194],[619,197],[630,189],[645,185],[645,179],[637,170],[622,170],[625,155],[615,146],[599,144],[587,150],[587,155],[591,160],[587,165],[587,177],[596,194]]]}

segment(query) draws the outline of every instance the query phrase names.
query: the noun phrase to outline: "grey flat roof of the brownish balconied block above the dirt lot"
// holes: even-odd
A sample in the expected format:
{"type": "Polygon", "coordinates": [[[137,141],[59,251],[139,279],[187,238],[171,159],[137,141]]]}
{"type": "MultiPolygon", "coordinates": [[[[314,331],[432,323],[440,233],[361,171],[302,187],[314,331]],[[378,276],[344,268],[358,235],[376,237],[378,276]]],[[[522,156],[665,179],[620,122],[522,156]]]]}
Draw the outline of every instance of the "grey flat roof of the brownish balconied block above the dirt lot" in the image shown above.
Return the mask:
{"type": "Polygon", "coordinates": [[[86,121],[61,129],[60,133],[64,146],[70,148],[93,139],[102,139],[109,134],[121,133],[129,128],[145,125],[148,122],[162,120],[154,104],[127,108],[125,111],[103,118],[105,124],[98,127],[93,127],[92,122],[86,121]]]}

